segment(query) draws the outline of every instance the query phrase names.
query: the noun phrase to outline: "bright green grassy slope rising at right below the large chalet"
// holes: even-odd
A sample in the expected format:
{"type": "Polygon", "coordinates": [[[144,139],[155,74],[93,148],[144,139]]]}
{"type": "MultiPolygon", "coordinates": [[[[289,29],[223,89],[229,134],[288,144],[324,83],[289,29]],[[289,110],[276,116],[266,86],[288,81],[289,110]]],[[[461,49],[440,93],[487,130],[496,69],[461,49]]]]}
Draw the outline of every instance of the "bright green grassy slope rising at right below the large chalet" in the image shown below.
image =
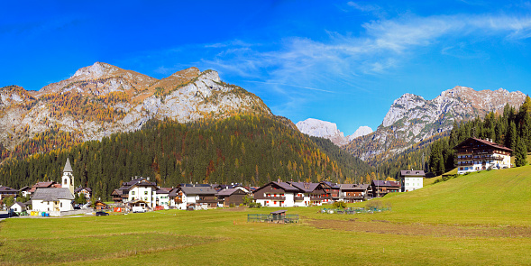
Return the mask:
{"type": "Polygon", "coordinates": [[[531,166],[459,176],[381,199],[399,222],[531,226],[531,166]]]}

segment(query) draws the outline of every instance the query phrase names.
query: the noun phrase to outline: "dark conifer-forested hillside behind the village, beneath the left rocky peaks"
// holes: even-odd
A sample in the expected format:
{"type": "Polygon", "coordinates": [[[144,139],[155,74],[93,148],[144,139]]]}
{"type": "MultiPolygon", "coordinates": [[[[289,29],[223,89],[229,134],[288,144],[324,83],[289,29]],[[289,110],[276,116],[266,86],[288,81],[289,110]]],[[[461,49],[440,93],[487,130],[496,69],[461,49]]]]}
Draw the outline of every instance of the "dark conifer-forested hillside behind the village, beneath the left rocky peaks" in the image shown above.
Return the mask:
{"type": "Polygon", "coordinates": [[[332,149],[331,142],[316,142],[280,117],[235,115],[189,124],[152,120],[141,131],[7,159],[0,167],[0,183],[21,188],[58,181],[67,157],[76,187],[88,186],[102,199],[133,176],[151,177],[161,187],[183,182],[260,186],[276,179],[357,182],[371,170],[332,149]]]}

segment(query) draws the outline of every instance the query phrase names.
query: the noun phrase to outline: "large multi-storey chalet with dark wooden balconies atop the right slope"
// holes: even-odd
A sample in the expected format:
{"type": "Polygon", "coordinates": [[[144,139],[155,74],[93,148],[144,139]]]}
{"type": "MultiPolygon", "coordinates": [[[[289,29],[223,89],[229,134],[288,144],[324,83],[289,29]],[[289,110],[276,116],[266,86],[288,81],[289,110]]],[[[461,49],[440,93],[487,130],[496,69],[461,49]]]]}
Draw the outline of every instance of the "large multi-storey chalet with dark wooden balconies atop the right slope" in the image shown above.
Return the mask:
{"type": "Polygon", "coordinates": [[[492,140],[469,138],[453,147],[457,173],[510,168],[512,150],[492,140]]]}

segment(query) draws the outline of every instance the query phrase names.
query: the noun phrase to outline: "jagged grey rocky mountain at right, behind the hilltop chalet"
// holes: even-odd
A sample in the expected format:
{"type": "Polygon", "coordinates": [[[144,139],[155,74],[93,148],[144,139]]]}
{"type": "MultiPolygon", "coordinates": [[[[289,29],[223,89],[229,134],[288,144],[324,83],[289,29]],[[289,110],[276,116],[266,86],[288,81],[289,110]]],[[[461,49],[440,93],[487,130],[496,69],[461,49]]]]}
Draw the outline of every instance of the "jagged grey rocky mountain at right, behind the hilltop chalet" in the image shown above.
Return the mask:
{"type": "Polygon", "coordinates": [[[459,86],[433,100],[405,94],[393,102],[375,132],[354,139],[343,148],[364,161],[378,161],[451,130],[454,121],[483,117],[490,111],[502,112],[506,104],[519,106],[525,98],[519,91],[503,88],[476,91],[459,86]]]}

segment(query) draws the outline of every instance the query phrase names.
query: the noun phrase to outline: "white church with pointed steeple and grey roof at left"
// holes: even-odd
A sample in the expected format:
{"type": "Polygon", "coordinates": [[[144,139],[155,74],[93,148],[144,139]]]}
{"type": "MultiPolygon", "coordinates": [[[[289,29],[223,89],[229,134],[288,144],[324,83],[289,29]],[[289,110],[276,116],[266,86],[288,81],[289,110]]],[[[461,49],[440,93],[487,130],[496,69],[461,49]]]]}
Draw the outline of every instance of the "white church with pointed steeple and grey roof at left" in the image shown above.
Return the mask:
{"type": "Polygon", "coordinates": [[[33,211],[60,216],[60,212],[74,210],[74,175],[68,158],[60,184],[61,188],[37,188],[32,197],[33,211]]]}

